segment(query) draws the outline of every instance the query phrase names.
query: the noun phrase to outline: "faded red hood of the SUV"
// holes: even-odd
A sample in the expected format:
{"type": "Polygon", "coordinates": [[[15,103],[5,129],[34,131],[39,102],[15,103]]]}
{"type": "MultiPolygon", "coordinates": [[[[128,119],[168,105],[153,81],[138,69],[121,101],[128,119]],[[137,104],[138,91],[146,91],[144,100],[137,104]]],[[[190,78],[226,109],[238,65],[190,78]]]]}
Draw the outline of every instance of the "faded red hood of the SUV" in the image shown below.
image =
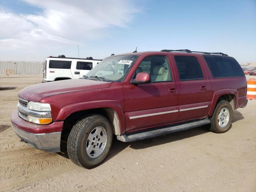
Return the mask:
{"type": "Polygon", "coordinates": [[[18,97],[29,101],[39,102],[41,99],[52,95],[108,88],[110,85],[111,82],[87,79],[61,80],[26,87],[20,91],[18,97]]]}

